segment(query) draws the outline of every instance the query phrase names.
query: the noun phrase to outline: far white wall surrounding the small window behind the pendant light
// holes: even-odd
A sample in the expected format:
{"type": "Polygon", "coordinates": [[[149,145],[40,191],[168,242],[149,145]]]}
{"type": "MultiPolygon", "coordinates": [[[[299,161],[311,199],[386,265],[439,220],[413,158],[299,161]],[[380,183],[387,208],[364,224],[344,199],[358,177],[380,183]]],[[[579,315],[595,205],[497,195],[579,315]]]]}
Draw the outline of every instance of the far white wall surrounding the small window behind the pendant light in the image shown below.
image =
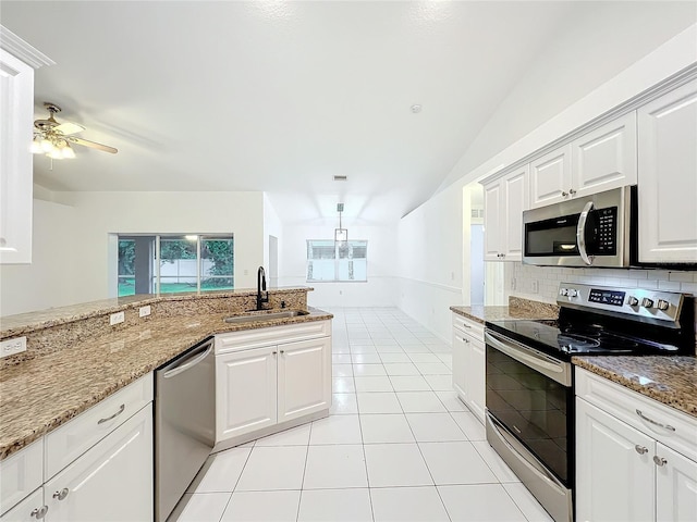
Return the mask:
{"type": "Polygon", "coordinates": [[[318,220],[314,224],[288,223],[283,227],[283,244],[279,269],[281,286],[311,286],[307,295],[313,307],[394,307],[394,266],[396,263],[396,226],[365,225],[343,220],[348,238],[368,241],[368,281],[365,283],[307,283],[307,239],[333,238],[335,219],[318,220]]]}

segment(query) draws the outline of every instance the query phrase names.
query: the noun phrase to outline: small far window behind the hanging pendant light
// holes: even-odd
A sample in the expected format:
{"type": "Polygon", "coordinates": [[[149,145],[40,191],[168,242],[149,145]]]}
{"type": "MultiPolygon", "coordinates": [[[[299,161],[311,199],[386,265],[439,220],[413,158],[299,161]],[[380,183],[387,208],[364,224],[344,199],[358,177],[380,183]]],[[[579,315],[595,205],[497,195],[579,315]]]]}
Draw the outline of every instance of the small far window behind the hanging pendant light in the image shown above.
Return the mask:
{"type": "Polygon", "coordinates": [[[307,240],[307,281],[368,281],[368,241],[307,240]]]}

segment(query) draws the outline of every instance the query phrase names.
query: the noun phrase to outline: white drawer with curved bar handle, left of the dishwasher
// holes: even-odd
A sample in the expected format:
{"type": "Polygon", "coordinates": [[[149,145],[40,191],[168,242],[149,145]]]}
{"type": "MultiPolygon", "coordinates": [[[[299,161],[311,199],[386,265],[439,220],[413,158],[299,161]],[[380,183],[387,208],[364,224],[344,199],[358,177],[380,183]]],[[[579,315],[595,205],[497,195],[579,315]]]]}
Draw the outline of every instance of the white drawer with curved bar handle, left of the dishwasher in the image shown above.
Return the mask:
{"type": "Polygon", "coordinates": [[[152,373],[120,389],[46,436],[50,478],[152,401],[152,373]]]}

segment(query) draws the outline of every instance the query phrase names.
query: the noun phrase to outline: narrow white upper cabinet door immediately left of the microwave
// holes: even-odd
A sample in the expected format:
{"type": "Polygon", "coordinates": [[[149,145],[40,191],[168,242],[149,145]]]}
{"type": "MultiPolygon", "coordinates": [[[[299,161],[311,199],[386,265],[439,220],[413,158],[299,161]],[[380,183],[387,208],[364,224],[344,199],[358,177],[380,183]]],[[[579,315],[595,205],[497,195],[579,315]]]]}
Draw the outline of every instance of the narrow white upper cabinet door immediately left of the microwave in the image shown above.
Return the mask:
{"type": "Polygon", "coordinates": [[[521,261],[523,259],[523,211],[528,209],[529,165],[525,165],[503,178],[504,229],[501,231],[504,245],[502,246],[505,261],[521,261]]]}

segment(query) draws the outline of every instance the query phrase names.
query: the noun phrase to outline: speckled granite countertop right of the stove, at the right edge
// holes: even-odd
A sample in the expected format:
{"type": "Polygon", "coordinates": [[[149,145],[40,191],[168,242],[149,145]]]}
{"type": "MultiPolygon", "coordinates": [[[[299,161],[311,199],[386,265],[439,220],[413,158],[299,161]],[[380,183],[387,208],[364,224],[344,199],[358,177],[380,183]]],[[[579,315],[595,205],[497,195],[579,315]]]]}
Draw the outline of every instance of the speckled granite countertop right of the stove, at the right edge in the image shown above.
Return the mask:
{"type": "Polygon", "coordinates": [[[697,417],[697,358],[690,356],[574,357],[572,362],[697,417]]]}

